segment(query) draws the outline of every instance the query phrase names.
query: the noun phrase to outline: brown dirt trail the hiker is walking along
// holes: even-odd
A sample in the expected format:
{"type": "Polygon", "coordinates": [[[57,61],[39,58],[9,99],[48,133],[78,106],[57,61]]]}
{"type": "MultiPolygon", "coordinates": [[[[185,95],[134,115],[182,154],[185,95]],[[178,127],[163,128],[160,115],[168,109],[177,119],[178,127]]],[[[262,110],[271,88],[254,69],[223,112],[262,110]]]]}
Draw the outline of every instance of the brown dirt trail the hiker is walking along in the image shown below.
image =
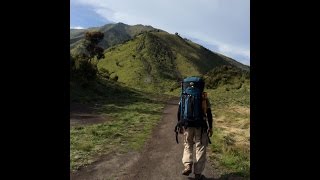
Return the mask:
{"type": "MultiPolygon", "coordinates": [[[[109,154],[88,167],[71,174],[73,180],[107,180],[107,179],[139,179],[139,180],[185,180],[194,179],[194,174],[181,175],[183,169],[183,140],[179,135],[179,144],[173,132],[177,122],[178,100],[167,103],[161,122],[154,129],[143,151],[130,152],[124,155],[109,154]]],[[[214,179],[213,169],[209,162],[203,172],[205,178],[214,179]]]]}

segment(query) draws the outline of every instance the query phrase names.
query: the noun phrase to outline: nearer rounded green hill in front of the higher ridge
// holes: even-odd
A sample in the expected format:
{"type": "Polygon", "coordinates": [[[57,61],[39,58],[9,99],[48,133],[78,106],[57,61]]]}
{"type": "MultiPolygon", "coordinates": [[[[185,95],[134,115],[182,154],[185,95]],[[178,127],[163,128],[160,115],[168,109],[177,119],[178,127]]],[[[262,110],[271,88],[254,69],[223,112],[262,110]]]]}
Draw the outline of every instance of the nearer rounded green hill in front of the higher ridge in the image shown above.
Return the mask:
{"type": "Polygon", "coordinates": [[[154,92],[170,92],[181,78],[203,75],[231,65],[220,55],[189,40],[166,32],[146,32],[108,48],[98,64],[128,86],[154,92]]]}

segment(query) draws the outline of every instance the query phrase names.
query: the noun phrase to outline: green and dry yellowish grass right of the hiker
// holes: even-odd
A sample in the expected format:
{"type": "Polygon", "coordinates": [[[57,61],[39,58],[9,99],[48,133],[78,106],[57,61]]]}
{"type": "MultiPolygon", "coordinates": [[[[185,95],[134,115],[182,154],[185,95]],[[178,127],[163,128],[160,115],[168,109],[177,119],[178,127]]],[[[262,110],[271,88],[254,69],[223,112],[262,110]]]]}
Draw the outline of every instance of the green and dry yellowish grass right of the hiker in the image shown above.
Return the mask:
{"type": "Polygon", "coordinates": [[[207,91],[215,115],[211,159],[221,177],[250,179],[249,87],[246,81],[240,89],[226,91],[220,86],[207,91]]]}

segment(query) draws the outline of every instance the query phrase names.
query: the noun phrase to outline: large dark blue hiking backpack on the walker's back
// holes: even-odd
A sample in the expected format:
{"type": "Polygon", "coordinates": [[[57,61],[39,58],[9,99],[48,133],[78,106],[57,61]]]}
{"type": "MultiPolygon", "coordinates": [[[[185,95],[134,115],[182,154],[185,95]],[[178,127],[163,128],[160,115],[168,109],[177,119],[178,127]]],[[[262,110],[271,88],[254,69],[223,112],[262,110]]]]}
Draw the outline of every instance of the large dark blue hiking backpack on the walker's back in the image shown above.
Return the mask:
{"type": "Polygon", "coordinates": [[[203,123],[206,110],[204,80],[199,77],[187,77],[182,81],[180,97],[180,120],[192,124],[203,123]]]}

